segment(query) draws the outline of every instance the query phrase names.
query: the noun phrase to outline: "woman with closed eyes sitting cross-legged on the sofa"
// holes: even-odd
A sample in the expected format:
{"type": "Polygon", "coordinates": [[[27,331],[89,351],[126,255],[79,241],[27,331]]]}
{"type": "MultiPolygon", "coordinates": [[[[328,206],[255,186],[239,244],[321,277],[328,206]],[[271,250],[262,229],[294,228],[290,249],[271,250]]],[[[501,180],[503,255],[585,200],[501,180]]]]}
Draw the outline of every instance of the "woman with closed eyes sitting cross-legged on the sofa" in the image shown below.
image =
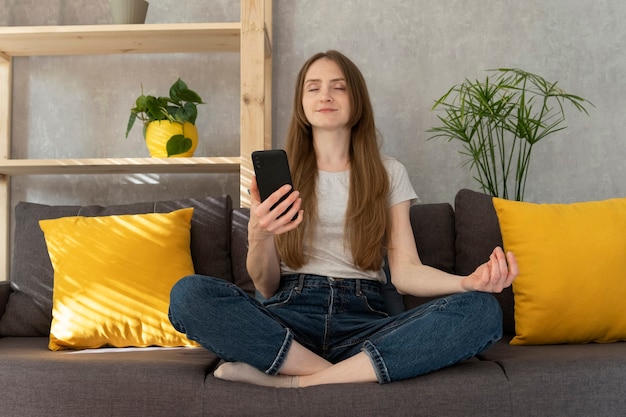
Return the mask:
{"type": "Polygon", "coordinates": [[[226,361],[216,377],[388,383],[501,337],[502,313],[487,293],[511,285],[515,257],[495,248],[466,277],[421,263],[409,220],[415,192],[404,167],[380,155],[365,81],[341,53],[316,54],[300,70],[286,151],[295,191],[284,202],[270,209],[290,186],[261,202],[252,181],[247,268],[260,300],[197,275],[172,290],[174,327],[226,361]],[[448,296],[389,317],[385,254],[401,294],[448,296]]]}

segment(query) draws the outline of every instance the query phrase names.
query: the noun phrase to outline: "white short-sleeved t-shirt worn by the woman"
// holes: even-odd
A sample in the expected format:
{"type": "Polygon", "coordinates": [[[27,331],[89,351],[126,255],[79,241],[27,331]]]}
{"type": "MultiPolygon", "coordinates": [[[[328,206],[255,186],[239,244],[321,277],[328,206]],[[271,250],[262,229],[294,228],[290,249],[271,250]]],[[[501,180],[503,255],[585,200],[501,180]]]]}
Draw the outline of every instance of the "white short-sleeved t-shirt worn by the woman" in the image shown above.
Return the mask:
{"type": "MultiPolygon", "coordinates": [[[[383,156],[383,165],[389,175],[388,206],[417,199],[406,168],[395,158],[383,156]]],[[[382,271],[363,271],[352,261],[349,245],[344,244],[344,221],[350,192],[350,171],[318,172],[317,227],[313,246],[305,240],[304,251],[308,262],[294,270],[281,262],[281,273],[314,274],[333,278],[361,278],[385,282],[382,271]]]]}

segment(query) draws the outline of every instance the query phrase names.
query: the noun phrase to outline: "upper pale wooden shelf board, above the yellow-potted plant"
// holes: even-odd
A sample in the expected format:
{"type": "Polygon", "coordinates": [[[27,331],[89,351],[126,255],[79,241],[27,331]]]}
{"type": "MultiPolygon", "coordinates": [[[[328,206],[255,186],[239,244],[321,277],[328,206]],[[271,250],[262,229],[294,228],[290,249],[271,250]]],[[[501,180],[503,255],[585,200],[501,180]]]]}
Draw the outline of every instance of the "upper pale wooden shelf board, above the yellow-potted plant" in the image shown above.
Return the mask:
{"type": "Polygon", "coordinates": [[[241,23],[0,28],[0,56],[239,52],[241,23]]]}

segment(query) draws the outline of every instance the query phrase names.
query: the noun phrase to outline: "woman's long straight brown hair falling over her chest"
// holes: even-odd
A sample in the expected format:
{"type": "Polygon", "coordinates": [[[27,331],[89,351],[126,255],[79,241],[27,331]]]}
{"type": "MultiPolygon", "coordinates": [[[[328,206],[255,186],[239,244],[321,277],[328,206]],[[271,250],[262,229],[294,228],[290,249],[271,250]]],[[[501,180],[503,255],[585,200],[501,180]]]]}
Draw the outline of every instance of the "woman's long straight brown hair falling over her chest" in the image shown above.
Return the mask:
{"type": "Polygon", "coordinates": [[[293,269],[306,264],[304,241],[313,240],[317,223],[317,158],[312,128],[302,107],[305,76],[319,59],[335,62],[346,79],[350,97],[350,191],[344,224],[345,242],[354,264],[362,270],[378,270],[383,264],[385,232],[388,224],[389,179],[378,149],[378,131],[365,79],[357,66],[337,51],[320,52],[309,58],[296,80],[291,123],[285,150],[289,156],[294,189],[300,191],[304,221],[296,230],[276,238],[283,262],[293,269]]]}

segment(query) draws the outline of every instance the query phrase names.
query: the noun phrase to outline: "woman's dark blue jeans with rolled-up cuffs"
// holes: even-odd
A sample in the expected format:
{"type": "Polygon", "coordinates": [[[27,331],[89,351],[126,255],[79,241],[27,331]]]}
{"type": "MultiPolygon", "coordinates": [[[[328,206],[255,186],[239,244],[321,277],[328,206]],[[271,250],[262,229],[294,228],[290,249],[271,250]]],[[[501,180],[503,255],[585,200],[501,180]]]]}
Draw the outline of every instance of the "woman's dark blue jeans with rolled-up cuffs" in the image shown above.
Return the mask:
{"type": "Polygon", "coordinates": [[[169,317],[225,361],[269,375],[280,371],[293,340],[332,363],[363,351],[379,383],[471,358],[502,337],[502,311],[490,294],[451,295],[389,316],[378,282],[304,274],[282,277],[264,300],[191,275],[172,289],[169,317]]]}

